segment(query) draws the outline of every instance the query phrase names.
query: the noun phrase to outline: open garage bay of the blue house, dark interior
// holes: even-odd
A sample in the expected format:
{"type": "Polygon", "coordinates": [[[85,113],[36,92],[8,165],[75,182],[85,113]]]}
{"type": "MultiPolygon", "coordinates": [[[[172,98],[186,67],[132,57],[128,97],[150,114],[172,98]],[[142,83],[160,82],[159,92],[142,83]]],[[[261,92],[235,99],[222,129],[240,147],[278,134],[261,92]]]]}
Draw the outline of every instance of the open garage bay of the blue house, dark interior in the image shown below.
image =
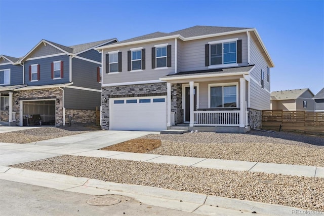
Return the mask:
{"type": "Polygon", "coordinates": [[[54,100],[28,100],[23,104],[23,126],[25,125],[55,125],[54,100]],[[40,122],[41,121],[41,122],[40,122]]]}

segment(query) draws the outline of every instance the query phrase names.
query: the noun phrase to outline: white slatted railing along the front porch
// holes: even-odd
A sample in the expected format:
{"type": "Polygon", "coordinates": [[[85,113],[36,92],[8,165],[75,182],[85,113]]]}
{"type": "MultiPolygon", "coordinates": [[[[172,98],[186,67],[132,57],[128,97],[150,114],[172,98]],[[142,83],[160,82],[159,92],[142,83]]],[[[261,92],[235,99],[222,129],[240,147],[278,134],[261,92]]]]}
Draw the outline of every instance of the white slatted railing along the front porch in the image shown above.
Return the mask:
{"type": "Polygon", "coordinates": [[[197,126],[239,126],[239,110],[194,111],[193,115],[197,126]]]}

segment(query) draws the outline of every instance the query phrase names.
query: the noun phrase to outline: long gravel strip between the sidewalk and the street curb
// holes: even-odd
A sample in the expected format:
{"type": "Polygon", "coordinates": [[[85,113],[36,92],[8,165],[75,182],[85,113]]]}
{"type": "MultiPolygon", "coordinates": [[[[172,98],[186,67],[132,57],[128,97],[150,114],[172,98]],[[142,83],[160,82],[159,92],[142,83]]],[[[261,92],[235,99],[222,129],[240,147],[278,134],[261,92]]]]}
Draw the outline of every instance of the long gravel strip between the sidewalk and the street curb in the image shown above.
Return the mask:
{"type": "Polygon", "coordinates": [[[82,156],[12,167],[324,211],[324,178],[82,156]]]}

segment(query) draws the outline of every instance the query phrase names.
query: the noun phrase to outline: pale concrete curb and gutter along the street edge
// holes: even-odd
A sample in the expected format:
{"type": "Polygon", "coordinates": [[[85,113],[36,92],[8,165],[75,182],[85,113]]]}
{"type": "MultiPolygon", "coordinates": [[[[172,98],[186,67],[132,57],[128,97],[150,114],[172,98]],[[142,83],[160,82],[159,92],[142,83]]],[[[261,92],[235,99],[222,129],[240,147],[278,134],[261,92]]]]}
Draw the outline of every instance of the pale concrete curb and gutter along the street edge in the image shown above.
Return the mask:
{"type": "MultiPolygon", "coordinates": [[[[89,195],[124,195],[133,197],[149,205],[205,215],[235,215],[241,212],[252,214],[253,211],[256,211],[259,215],[289,215],[296,211],[310,211],[290,206],[230,199],[149,186],[104,182],[98,179],[73,177],[1,165],[0,179],[89,195]]],[[[317,212],[317,214],[321,213],[324,214],[324,212],[317,212]]]]}

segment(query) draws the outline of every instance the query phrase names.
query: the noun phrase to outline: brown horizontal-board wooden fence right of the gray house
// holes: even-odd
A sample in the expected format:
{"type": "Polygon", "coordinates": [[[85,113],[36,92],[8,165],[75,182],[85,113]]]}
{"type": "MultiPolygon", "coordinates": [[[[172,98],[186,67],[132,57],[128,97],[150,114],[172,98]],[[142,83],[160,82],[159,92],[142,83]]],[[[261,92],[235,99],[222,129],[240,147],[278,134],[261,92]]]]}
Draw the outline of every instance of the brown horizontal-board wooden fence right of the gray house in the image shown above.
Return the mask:
{"type": "Polygon", "coordinates": [[[262,111],[262,129],[324,133],[324,112],[262,111]],[[281,128],[280,128],[281,125],[281,128]]]}

